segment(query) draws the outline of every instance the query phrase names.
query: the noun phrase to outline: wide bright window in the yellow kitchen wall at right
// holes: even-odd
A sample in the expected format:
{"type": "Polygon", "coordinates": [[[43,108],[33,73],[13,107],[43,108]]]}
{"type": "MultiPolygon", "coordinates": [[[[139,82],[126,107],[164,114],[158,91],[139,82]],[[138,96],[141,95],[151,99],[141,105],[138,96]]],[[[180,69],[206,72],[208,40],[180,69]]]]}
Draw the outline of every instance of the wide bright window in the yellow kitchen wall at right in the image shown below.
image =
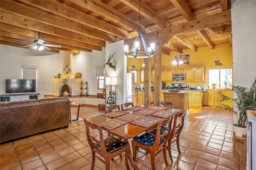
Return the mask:
{"type": "Polygon", "coordinates": [[[208,85],[211,87],[212,83],[217,85],[220,83],[220,88],[224,89],[224,82],[227,82],[227,88],[232,88],[232,68],[224,69],[208,69],[208,85]]]}

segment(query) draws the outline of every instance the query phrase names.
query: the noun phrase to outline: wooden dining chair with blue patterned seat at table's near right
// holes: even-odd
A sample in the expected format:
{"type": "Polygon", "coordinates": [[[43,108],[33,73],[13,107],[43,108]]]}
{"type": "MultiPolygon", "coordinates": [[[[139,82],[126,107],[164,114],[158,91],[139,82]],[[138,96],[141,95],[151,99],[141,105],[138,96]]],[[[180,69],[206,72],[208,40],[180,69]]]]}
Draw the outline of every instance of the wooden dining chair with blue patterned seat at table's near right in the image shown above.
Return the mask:
{"type": "Polygon", "coordinates": [[[166,158],[166,145],[168,142],[168,139],[170,137],[170,121],[172,117],[165,119],[163,121],[160,121],[157,125],[157,133],[153,134],[151,132],[146,132],[142,134],[141,136],[138,136],[132,140],[132,150],[133,150],[133,159],[136,160],[136,156],[138,153],[138,148],[142,148],[143,150],[146,150],[146,152],[150,152],[150,160],[151,160],[151,166],[152,170],[156,169],[155,166],[155,156],[159,154],[161,151],[164,155],[164,162],[165,165],[168,166],[167,158],[166,158]],[[162,124],[168,124],[168,129],[164,131],[162,134],[160,134],[160,129],[162,124]]]}

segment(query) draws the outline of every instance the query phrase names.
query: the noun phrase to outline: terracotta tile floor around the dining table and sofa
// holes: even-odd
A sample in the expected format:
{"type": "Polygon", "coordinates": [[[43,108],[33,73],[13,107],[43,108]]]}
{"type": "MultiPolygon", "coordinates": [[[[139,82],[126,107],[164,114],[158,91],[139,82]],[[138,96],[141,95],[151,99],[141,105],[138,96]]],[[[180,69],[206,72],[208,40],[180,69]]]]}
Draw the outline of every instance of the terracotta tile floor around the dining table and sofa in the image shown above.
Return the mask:
{"type": "MultiPolygon", "coordinates": [[[[72,107],[76,115],[76,107],[72,107]]],[[[101,115],[98,107],[80,107],[80,118],[101,115]]],[[[157,170],[245,170],[246,150],[236,142],[232,151],[232,115],[215,108],[190,108],[185,117],[178,154],[172,145],[174,163],[164,164],[162,154],[155,158],[157,170]]],[[[106,133],[105,133],[106,135],[106,133]]],[[[132,150],[132,148],[131,148],[132,150]]],[[[66,129],[56,129],[0,145],[1,170],[88,170],[91,151],[85,136],[84,121],[73,122],[66,129]]],[[[140,170],[151,169],[150,154],[140,149],[136,164],[140,170]]],[[[114,158],[110,169],[123,170],[124,159],[114,158]]],[[[96,158],[95,170],[105,169],[96,158]]],[[[131,168],[132,169],[132,168],[131,168]]]]}

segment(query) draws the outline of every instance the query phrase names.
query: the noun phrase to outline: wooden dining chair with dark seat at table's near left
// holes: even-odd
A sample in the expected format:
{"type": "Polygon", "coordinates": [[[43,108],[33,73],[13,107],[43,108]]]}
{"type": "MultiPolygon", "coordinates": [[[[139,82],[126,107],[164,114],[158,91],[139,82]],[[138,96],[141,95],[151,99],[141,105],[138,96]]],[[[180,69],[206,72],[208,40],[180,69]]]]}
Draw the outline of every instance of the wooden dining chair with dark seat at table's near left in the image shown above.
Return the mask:
{"type": "Polygon", "coordinates": [[[92,151],[91,170],[94,169],[95,157],[106,165],[106,170],[109,170],[110,159],[121,155],[123,152],[125,152],[126,169],[130,170],[128,162],[130,145],[118,138],[115,138],[114,136],[109,136],[104,139],[102,127],[100,125],[90,123],[86,119],[84,119],[84,123],[86,127],[87,141],[92,151]],[[90,134],[89,128],[98,130],[98,133],[100,134],[99,140],[90,134]],[[104,158],[104,160],[101,157],[104,158]]]}

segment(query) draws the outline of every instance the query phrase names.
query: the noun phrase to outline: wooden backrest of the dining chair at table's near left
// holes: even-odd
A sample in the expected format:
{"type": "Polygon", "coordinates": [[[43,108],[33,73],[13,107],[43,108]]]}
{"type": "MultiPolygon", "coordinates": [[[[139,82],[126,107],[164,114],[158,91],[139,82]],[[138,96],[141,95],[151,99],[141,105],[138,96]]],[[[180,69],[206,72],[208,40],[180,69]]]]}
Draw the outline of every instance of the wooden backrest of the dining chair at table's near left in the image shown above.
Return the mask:
{"type": "Polygon", "coordinates": [[[88,144],[90,145],[90,148],[93,150],[94,144],[100,144],[100,151],[102,154],[108,154],[105,148],[104,144],[104,137],[103,137],[103,132],[102,132],[102,127],[100,125],[97,125],[95,123],[90,123],[86,119],[84,119],[85,123],[85,128],[86,128],[86,138],[88,141],[88,144]],[[96,139],[94,136],[90,135],[90,128],[92,129],[97,129],[99,134],[100,134],[100,140],[96,139]]]}

